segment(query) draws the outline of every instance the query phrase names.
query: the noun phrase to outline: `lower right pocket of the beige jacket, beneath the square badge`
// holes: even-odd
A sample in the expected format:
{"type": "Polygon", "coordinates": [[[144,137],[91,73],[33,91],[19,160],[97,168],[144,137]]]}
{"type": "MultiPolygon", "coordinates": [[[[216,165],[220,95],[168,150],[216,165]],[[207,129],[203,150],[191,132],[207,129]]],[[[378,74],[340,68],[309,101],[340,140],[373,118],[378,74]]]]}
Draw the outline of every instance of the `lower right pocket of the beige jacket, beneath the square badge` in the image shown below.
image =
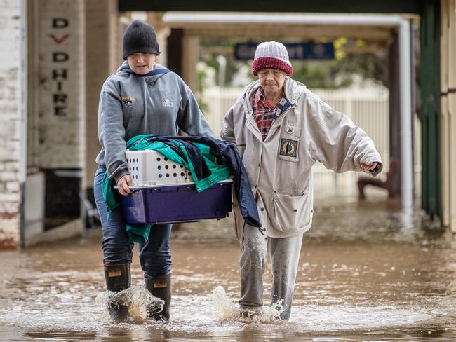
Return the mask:
{"type": "Polygon", "coordinates": [[[283,233],[293,233],[302,226],[307,226],[311,221],[308,199],[307,192],[299,196],[288,196],[274,191],[274,227],[283,233]]]}

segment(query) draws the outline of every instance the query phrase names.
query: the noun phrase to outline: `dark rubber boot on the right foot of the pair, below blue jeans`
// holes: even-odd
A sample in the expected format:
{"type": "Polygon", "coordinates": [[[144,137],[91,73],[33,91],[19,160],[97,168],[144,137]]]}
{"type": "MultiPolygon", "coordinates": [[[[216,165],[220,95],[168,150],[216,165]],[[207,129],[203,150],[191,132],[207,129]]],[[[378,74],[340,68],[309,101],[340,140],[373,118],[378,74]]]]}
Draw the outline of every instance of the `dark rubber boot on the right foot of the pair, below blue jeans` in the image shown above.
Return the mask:
{"type": "Polygon", "coordinates": [[[146,289],[152,296],[165,301],[163,310],[157,312],[154,308],[147,311],[147,315],[157,322],[168,322],[169,308],[171,303],[171,275],[161,275],[160,277],[146,278],[146,289]]]}

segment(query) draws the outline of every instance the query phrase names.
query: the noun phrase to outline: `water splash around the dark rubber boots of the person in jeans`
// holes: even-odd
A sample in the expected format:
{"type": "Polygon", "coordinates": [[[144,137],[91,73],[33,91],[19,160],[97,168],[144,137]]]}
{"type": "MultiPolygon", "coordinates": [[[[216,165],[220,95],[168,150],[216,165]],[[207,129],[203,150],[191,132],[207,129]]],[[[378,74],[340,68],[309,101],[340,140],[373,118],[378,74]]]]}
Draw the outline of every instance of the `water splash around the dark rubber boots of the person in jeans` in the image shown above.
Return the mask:
{"type": "Polygon", "coordinates": [[[100,292],[95,298],[98,306],[106,308],[108,303],[128,307],[128,313],[136,324],[147,320],[147,312],[160,312],[163,310],[164,301],[152,296],[144,286],[132,285],[120,292],[100,292]]]}

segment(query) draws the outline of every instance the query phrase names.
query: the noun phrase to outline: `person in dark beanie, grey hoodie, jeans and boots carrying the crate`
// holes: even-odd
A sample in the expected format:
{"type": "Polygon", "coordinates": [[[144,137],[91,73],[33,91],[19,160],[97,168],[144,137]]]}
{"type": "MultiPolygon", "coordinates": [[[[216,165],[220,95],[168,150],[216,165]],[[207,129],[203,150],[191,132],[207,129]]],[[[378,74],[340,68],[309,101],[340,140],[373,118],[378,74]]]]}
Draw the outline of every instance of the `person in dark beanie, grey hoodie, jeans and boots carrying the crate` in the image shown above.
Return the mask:
{"type": "MultiPolygon", "coordinates": [[[[119,207],[107,216],[102,194],[102,179],[108,172],[115,179],[121,195],[132,191],[126,165],[126,142],[135,135],[188,135],[215,137],[196,103],[189,87],[177,74],[156,63],[160,54],[154,28],[134,21],[123,35],[123,59],[116,74],[102,86],[98,110],[98,137],[102,149],[97,156],[94,193],[102,222],[102,248],[105,280],[108,290],[120,292],[130,287],[130,263],[133,242],[126,232],[119,207]]],[[[161,312],[152,308],[149,317],[169,320],[171,300],[170,224],[152,226],[149,240],[140,245],[140,264],[146,287],[163,299],[161,312]]],[[[113,322],[128,319],[128,308],[122,296],[112,296],[108,311],[113,322]]]]}

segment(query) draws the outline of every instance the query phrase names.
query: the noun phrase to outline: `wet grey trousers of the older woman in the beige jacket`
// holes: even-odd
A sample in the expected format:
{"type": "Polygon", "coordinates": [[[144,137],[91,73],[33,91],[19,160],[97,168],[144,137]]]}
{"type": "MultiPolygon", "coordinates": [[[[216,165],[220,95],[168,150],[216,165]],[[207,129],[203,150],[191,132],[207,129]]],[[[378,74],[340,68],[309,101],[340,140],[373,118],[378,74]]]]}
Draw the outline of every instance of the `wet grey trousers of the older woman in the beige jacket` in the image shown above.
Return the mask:
{"type": "Polygon", "coordinates": [[[263,274],[267,260],[267,240],[271,254],[272,289],[271,304],[283,300],[282,320],[288,320],[295,289],[297,266],[300,259],[302,235],[291,238],[267,238],[260,231],[246,224],[243,229],[241,272],[241,299],[243,309],[263,305],[263,274]]]}

